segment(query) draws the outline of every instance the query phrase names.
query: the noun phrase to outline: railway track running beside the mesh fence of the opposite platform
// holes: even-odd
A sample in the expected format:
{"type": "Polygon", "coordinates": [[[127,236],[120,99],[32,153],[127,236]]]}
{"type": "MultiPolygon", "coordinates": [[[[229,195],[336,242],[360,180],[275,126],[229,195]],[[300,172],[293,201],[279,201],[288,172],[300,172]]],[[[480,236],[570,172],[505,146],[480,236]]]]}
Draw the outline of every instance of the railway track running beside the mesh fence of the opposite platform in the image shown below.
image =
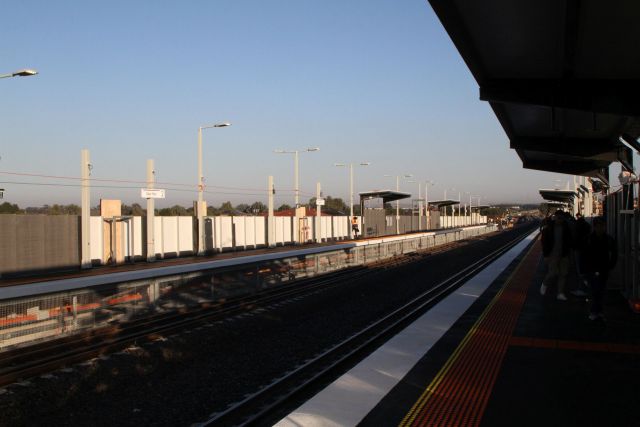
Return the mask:
{"type": "Polygon", "coordinates": [[[356,280],[374,274],[381,268],[399,268],[430,255],[468,245],[482,237],[484,236],[451,242],[366,266],[351,267],[313,278],[295,280],[287,285],[225,302],[202,303],[198,308],[187,312],[148,316],[90,332],[8,350],[0,353],[0,387],[74,363],[120,351],[132,344],[153,341],[165,335],[221,320],[278,301],[300,297],[320,288],[338,286],[346,280],[356,280]]]}

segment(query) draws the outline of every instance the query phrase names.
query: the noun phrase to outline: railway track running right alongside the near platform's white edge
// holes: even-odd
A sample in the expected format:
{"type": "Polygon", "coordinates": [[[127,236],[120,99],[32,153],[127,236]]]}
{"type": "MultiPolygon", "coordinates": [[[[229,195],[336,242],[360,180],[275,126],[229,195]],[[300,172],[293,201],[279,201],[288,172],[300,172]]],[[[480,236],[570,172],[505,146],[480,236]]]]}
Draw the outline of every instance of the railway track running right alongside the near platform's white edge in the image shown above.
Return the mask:
{"type": "Polygon", "coordinates": [[[385,315],[365,329],[354,333],[330,349],[299,365],[271,384],[246,396],[226,410],[211,415],[198,424],[271,425],[277,422],[278,411],[292,401],[301,400],[303,393],[327,384],[354,365],[379,344],[421,316],[445,296],[506,253],[529,233],[523,233],[499,249],[489,253],[448,279],[438,283],[411,302],[385,315]]]}

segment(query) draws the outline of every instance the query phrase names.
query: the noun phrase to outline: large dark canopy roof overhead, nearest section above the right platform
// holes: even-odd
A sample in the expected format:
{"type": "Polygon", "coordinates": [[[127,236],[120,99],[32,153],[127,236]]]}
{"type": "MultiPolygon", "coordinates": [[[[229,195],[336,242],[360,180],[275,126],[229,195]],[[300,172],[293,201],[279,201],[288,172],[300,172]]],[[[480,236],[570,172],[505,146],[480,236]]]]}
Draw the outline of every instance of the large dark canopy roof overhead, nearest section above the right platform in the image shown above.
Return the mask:
{"type": "Polygon", "coordinates": [[[429,0],[527,169],[608,184],[640,148],[640,2],[429,0]]]}

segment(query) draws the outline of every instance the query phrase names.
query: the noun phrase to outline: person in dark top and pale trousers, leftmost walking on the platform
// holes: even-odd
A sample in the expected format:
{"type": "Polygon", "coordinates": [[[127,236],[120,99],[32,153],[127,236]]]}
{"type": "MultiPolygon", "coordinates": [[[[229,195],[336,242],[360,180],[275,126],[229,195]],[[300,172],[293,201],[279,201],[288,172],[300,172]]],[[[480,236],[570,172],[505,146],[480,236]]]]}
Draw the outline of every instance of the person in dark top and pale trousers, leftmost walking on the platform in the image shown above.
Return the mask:
{"type": "Polygon", "coordinates": [[[547,274],[540,285],[540,294],[547,293],[549,283],[556,279],[558,287],[557,299],[566,301],[564,285],[569,273],[569,255],[571,252],[571,230],[564,212],[558,210],[552,220],[542,230],[542,254],[547,265],[547,274]]]}

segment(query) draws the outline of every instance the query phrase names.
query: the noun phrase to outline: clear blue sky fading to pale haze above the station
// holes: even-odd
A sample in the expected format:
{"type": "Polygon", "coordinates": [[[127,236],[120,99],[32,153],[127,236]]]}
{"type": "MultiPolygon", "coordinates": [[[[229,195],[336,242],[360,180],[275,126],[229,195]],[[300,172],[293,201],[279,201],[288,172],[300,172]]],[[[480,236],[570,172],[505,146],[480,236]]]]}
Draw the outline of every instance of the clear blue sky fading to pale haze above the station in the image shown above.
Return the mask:
{"type": "MultiPolygon", "coordinates": [[[[159,181],[195,184],[198,126],[230,121],[204,134],[208,190],[225,192],[206,196],[215,205],[264,201],[268,175],[292,189],[292,156],[276,148],[321,148],[301,155],[303,200],[317,181],[347,197],[334,162],[372,163],[356,191],[412,173],[437,182],[430,198],[455,187],[493,203],[537,203],[538,188],[569,178],[522,169],[424,0],[5,2],[0,73],[25,67],[40,74],[0,80],[0,171],[78,177],[88,148],[95,178],[144,180],[153,158],[159,181]]],[[[0,187],[21,206],[79,204],[76,187],[0,187]]],[[[143,201],[94,188],[100,198],[143,201]]],[[[158,205],[195,198],[168,191],[158,205]]]]}

